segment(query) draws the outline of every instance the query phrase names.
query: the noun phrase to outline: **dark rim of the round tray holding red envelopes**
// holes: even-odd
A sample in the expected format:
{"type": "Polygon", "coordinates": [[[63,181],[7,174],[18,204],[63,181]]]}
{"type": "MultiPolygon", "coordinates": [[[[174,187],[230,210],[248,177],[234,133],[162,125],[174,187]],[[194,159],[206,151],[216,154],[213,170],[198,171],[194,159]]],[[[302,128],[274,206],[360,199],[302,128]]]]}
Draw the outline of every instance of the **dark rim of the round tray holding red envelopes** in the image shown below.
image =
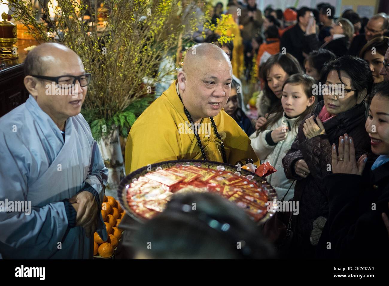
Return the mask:
{"type": "MultiPolygon", "coordinates": [[[[139,221],[140,223],[144,223],[146,219],[141,218],[137,214],[135,214],[127,202],[127,193],[125,190],[126,185],[131,183],[133,179],[137,179],[138,177],[141,177],[145,175],[148,172],[153,172],[157,167],[161,167],[163,169],[174,167],[177,165],[194,165],[196,167],[204,167],[204,168],[212,168],[216,170],[217,166],[224,166],[226,168],[226,171],[229,172],[236,172],[237,169],[235,166],[231,164],[221,163],[221,162],[215,162],[215,161],[205,161],[205,160],[174,160],[174,161],[164,161],[160,163],[152,164],[151,167],[142,167],[138,170],[135,170],[128,174],[125,178],[123,178],[119,184],[119,188],[117,190],[117,197],[119,198],[119,202],[122,205],[123,209],[126,211],[126,213],[133,219],[139,221]]],[[[264,177],[259,177],[256,174],[253,174],[247,170],[240,170],[240,174],[246,176],[246,175],[253,175],[254,178],[251,180],[255,182],[259,188],[261,188],[266,195],[269,198],[269,201],[273,201],[274,199],[277,201],[277,193],[275,189],[266,181],[264,177]]],[[[267,221],[269,218],[273,216],[275,213],[275,208],[272,208],[272,211],[266,212],[265,216],[261,218],[258,223],[262,224],[265,221],[267,221]]]]}

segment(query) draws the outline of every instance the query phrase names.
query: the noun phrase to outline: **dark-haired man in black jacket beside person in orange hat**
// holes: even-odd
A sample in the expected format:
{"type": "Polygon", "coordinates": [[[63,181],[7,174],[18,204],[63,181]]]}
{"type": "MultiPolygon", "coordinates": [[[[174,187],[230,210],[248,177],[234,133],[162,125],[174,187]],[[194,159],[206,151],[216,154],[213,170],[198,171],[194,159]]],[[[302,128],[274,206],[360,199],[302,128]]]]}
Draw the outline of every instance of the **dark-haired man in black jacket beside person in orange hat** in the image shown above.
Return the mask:
{"type": "Polygon", "coordinates": [[[309,54],[311,51],[319,49],[320,42],[316,33],[305,35],[308,32],[308,23],[313,21],[312,11],[308,7],[301,7],[298,10],[297,19],[298,23],[282,34],[280,52],[292,54],[302,66],[305,59],[303,52],[309,54]]]}

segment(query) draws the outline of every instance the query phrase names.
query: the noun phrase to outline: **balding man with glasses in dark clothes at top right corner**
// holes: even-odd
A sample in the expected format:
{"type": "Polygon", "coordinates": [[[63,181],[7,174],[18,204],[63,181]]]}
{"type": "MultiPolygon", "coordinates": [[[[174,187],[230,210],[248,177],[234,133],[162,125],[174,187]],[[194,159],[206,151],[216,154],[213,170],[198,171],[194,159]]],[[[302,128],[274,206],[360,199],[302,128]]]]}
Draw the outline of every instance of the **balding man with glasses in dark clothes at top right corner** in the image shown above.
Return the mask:
{"type": "Polygon", "coordinates": [[[389,21],[385,14],[380,13],[371,17],[364,27],[364,34],[357,35],[352,40],[349,55],[358,56],[361,49],[368,41],[375,37],[381,37],[388,32],[388,28],[389,21]]]}

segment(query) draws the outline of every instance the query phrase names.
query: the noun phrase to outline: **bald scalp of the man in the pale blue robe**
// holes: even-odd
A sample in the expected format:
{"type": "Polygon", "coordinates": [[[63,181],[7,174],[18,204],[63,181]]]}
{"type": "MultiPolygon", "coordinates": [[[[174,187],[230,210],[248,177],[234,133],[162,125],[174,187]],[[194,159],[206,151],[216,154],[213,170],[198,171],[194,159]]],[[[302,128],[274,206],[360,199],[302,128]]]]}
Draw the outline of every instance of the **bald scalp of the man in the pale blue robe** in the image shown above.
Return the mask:
{"type": "Polygon", "coordinates": [[[24,62],[25,75],[45,75],[49,67],[60,68],[70,58],[81,63],[79,56],[62,44],[41,44],[28,53],[24,62]]]}

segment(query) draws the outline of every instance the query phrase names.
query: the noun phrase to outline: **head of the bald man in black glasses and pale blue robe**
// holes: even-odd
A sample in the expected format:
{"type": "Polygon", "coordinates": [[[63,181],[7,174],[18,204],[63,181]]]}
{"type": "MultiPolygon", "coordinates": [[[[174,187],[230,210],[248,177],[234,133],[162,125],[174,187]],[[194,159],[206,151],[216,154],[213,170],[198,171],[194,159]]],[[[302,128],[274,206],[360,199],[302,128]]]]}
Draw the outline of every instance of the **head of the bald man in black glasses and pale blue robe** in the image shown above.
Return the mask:
{"type": "Polygon", "coordinates": [[[25,73],[24,84],[30,95],[64,130],[65,121],[81,112],[91,78],[85,74],[80,57],[61,44],[41,44],[28,53],[25,73]]]}

